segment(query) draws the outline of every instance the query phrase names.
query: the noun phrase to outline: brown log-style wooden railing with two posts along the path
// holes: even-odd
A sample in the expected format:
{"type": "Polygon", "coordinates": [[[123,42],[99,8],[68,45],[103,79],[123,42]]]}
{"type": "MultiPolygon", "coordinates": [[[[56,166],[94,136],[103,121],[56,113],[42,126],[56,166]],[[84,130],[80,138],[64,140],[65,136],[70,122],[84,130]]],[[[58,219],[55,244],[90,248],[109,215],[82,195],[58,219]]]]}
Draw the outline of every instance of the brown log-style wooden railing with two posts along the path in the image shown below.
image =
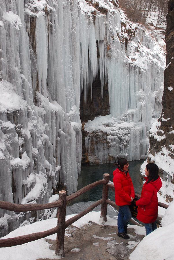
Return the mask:
{"type": "MultiPolygon", "coordinates": [[[[39,233],[33,233],[29,235],[23,235],[19,237],[14,238],[8,238],[8,239],[0,239],[0,247],[10,247],[10,246],[17,246],[21,245],[27,242],[35,241],[40,238],[47,237],[49,235],[53,235],[57,233],[56,237],[56,249],[55,254],[59,255],[60,257],[65,256],[64,254],[64,233],[65,229],[73,224],[75,221],[92,211],[95,207],[99,206],[101,204],[101,214],[100,219],[102,219],[104,222],[107,221],[106,215],[107,215],[107,205],[111,205],[116,210],[119,210],[119,206],[115,204],[115,202],[108,200],[108,189],[109,187],[115,192],[114,185],[108,183],[109,182],[109,174],[103,174],[103,180],[98,180],[96,182],[93,182],[79,191],[66,196],[66,191],[59,191],[59,200],[51,203],[46,204],[13,204],[10,202],[0,201],[0,208],[6,209],[14,212],[26,212],[26,211],[36,211],[41,209],[50,209],[54,207],[58,207],[58,222],[57,226],[55,228],[51,228],[44,232],[39,233]],[[65,221],[65,215],[66,215],[66,203],[73,200],[74,198],[77,198],[79,195],[83,194],[84,192],[103,184],[103,192],[102,192],[102,198],[101,200],[98,200],[94,202],[92,205],[90,205],[87,209],[80,212],[79,214],[75,215],[74,217],[71,217],[69,220],[65,221]]],[[[139,194],[136,194],[136,197],[140,198],[139,194]]],[[[164,203],[158,202],[159,206],[162,206],[163,208],[167,208],[168,205],[164,203]]],[[[130,222],[136,225],[138,224],[135,220],[131,219],[130,222]]],[[[158,220],[158,223],[160,223],[160,220],[158,220]]]]}

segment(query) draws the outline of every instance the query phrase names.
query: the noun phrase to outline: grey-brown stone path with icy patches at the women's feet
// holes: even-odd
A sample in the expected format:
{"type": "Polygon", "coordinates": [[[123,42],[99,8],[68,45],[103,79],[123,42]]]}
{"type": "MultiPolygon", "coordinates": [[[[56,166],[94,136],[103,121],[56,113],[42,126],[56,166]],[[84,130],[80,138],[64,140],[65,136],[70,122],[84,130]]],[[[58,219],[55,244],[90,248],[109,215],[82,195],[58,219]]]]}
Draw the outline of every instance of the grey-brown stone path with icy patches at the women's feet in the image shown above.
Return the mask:
{"type": "MultiPolygon", "coordinates": [[[[144,233],[143,228],[140,229],[142,229],[141,233],[144,233]]],[[[144,237],[135,231],[136,226],[129,225],[130,239],[125,240],[117,236],[117,226],[98,225],[93,222],[82,228],[69,226],[66,229],[69,236],[65,236],[63,260],[128,260],[129,254],[144,237]]],[[[56,241],[51,239],[47,241],[50,243],[50,249],[55,250],[56,241]]],[[[55,259],[58,258],[55,256],[55,259]]]]}

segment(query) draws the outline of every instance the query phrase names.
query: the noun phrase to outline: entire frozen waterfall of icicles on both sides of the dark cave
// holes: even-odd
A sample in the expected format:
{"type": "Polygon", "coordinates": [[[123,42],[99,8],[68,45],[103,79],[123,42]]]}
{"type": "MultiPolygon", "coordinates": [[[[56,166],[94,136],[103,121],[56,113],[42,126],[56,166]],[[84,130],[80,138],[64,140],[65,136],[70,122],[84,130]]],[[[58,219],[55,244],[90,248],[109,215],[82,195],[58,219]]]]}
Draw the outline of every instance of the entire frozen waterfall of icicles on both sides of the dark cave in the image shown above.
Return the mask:
{"type": "MultiPolygon", "coordinates": [[[[98,9],[84,0],[0,3],[1,200],[45,203],[58,181],[68,193],[76,191],[80,92],[84,88],[87,101],[97,73],[101,86],[108,81],[111,107],[110,116],[99,118],[109,144],[105,154],[102,144],[94,149],[103,151],[100,163],[108,155],[130,154],[133,160],[147,152],[151,120],[160,115],[164,54],[149,34],[126,21],[115,0],[92,2],[98,9]],[[135,143],[142,145],[134,151],[135,143]]],[[[5,235],[43,212],[1,210],[0,217],[5,235]]]]}

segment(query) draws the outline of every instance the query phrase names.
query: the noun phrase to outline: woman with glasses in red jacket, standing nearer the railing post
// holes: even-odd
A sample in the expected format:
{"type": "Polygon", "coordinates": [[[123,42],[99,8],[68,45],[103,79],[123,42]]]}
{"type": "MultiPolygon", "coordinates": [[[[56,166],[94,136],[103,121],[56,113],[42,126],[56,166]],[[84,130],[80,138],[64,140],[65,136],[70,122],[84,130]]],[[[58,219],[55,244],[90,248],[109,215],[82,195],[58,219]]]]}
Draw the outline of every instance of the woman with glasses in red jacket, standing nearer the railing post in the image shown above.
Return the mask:
{"type": "Polygon", "coordinates": [[[113,182],[115,187],[115,203],[119,206],[118,214],[118,236],[129,239],[127,235],[127,224],[131,219],[129,205],[134,199],[134,187],[128,172],[128,162],[125,158],[120,158],[117,162],[118,168],[113,172],[113,182]]]}

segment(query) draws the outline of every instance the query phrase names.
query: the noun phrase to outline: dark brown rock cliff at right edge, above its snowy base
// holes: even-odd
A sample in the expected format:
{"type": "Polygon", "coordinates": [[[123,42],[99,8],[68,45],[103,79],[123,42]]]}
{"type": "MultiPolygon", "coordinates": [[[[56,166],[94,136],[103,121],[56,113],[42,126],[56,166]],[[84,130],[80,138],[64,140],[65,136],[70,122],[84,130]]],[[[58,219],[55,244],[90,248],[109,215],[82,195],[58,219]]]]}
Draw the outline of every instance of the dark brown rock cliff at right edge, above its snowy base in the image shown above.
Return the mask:
{"type": "Polygon", "coordinates": [[[162,113],[158,119],[156,134],[150,134],[149,154],[155,155],[162,150],[162,147],[165,147],[169,156],[174,159],[174,0],[169,1],[168,9],[162,113]]]}

